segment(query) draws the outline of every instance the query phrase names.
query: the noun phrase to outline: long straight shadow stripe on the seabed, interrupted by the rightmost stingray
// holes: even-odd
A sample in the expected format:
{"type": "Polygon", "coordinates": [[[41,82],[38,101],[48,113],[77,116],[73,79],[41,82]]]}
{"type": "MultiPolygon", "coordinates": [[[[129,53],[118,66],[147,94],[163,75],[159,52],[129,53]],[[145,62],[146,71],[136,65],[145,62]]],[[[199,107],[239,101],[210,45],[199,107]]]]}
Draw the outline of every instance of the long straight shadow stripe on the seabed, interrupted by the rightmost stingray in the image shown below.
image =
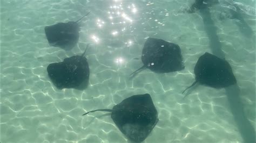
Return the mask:
{"type": "MultiPolygon", "coordinates": [[[[221,44],[217,35],[217,27],[211,18],[211,13],[208,8],[199,10],[205,31],[210,40],[210,48],[214,55],[224,59],[225,55],[221,50],[221,44]]],[[[250,121],[246,118],[244,113],[244,105],[241,103],[240,89],[237,84],[225,88],[230,110],[233,114],[234,121],[237,124],[238,130],[244,142],[255,142],[255,131],[250,121]]]]}

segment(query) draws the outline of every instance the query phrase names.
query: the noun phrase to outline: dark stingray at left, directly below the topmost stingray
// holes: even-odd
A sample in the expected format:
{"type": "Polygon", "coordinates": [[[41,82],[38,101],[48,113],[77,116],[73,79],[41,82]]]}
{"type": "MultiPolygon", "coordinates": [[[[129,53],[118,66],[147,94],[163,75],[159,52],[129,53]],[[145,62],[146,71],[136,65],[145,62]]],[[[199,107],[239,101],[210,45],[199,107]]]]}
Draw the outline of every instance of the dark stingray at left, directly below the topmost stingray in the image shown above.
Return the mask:
{"type": "Polygon", "coordinates": [[[71,56],[63,62],[51,63],[47,67],[48,75],[58,89],[83,90],[87,87],[90,70],[87,59],[84,57],[86,49],[82,55],[71,56]]]}

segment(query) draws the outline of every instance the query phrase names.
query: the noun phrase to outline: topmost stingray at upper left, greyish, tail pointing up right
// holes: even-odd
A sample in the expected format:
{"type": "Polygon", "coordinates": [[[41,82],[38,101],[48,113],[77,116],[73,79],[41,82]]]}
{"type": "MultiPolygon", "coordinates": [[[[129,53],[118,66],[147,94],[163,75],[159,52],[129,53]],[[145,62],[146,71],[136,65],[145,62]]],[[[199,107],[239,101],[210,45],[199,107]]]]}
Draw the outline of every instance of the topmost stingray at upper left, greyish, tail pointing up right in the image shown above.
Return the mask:
{"type": "Polygon", "coordinates": [[[76,22],[57,23],[55,25],[46,26],[44,31],[49,44],[66,50],[72,49],[79,39],[80,26],[78,22],[89,15],[89,13],[90,12],[76,22]]]}

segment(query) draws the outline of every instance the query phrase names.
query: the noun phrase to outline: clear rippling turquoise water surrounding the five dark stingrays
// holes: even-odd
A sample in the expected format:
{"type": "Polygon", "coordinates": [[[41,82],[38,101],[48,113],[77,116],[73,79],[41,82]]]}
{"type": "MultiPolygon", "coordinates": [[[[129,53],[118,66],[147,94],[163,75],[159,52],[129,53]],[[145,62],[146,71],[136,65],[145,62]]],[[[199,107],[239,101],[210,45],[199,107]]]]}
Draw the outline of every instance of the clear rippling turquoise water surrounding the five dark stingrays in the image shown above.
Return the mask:
{"type": "Polygon", "coordinates": [[[159,117],[144,142],[253,141],[255,1],[223,0],[209,7],[210,15],[186,13],[192,3],[1,1],[1,142],[129,142],[110,116],[81,115],[144,93],[151,95],[159,117]],[[240,9],[236,18],[234,5],[240,9]],[[75,21],[88,11],[78,46],[71,51],[49,46],[45,26],[75,21]],[[214,34],[218,39],[209,38],[214,34]],[[134,58],[140,58],[147,37],[178,44],[185,69],[166,74],[146,69],[130,79],[142,66],[134,58]],[[58,90],[46,67],[82,54],[87,43],[92,44],[86,53],[89,87],[58,90]],[[194,65],[205,52],[224,56],[238,84],[198,85],[183,99],[181,92],[194,81],[194,65]]]}

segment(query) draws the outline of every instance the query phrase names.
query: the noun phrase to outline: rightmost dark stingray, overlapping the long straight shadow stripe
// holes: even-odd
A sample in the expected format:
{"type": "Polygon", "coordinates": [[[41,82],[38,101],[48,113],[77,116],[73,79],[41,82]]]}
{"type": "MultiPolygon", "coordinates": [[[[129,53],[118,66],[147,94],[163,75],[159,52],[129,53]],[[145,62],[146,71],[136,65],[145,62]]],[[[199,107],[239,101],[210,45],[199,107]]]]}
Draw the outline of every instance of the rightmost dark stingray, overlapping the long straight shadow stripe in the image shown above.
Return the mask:
{"type": "Polygon", "coordinates": [[[207,52],[198,59],[194,67],[194,74],[196,75],[196,81],[182,93],[193,87],[197,82],[217,89],[237,83],[230,64],[226,60],[207,52]]]}

